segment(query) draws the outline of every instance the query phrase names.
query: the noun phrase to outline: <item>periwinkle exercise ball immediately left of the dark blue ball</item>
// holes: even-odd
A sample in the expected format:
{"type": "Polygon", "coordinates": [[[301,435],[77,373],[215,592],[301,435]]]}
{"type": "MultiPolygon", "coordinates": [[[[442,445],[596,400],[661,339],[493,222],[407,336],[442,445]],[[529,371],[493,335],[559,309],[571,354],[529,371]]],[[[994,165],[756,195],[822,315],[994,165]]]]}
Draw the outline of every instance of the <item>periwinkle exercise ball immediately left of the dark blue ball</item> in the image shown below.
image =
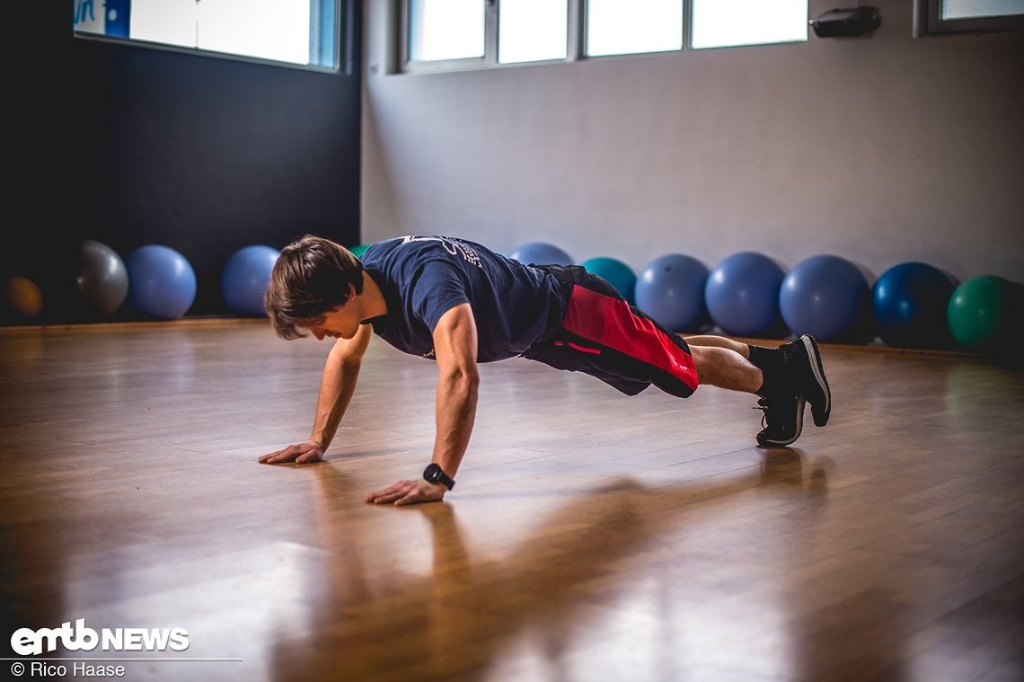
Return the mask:
{"type": "Polygon", "coordinates": [[[834,255],[802,260],[782,278],[778,308],[794,334],[818,341],[843,337],[854,327],[869,287],[860,268],[834,255]]]}

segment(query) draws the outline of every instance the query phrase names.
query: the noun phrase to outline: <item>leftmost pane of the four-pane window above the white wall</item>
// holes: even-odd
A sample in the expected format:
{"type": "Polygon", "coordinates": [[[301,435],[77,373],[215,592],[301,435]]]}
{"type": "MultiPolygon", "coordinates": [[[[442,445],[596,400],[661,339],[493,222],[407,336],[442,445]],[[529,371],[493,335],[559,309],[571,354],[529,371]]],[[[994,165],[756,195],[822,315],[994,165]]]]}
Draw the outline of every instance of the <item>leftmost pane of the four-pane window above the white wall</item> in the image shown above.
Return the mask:
{"type": "Polygon", "coordinates": [[[409,0],[409,58],[483,56],[483,0],[409,0]]]}

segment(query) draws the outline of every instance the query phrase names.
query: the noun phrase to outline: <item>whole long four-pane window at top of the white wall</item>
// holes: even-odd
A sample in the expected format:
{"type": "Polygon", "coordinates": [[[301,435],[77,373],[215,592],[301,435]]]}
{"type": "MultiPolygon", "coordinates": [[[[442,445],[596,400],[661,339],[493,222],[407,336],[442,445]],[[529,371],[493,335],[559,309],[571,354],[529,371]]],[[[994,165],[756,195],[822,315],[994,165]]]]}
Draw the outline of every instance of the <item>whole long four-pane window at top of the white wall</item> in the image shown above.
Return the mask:
{"type": "MultiPolygon", "coordinates": [[[[1024,2],[1024,0],[1019,0],[1024,2]]],[[[402,70],[807,40],[808,0],[403,0],[402,70]],[[688,16],[689,15],[689,16],[688,16]]]]}

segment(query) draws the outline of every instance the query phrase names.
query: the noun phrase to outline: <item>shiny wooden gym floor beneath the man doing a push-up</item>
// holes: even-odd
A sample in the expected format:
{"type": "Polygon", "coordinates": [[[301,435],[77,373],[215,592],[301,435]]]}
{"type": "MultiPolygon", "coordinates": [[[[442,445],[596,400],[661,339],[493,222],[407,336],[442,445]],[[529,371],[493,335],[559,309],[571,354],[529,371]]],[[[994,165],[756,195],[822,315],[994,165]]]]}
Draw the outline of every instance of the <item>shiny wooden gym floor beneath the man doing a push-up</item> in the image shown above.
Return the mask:
{"type": "Polygon", "coordinates": [[[395,508],[362,495],[427,463],[430,361],[375,339],[327,462],[269,466],[328,342],[0,332],[0,677],[84,619],[189,646],[40,656],[69,679],[1024,680],[1024,373],[822,349],[833,421],[782,450],[746,395],[483,366],[455,492],[395,508]]]}

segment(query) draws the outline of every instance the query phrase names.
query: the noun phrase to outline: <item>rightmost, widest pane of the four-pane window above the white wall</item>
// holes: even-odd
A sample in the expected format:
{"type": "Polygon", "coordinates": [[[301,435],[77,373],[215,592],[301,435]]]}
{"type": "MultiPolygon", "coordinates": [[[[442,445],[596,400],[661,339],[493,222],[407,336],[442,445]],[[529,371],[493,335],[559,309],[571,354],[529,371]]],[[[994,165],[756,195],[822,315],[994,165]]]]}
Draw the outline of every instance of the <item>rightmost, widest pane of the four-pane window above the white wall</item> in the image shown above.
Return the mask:
{"type": "Polygon", "coordinates": [[[807,0],[693,0],[695,49],[801,40],[807,40],[807,0]]]}

